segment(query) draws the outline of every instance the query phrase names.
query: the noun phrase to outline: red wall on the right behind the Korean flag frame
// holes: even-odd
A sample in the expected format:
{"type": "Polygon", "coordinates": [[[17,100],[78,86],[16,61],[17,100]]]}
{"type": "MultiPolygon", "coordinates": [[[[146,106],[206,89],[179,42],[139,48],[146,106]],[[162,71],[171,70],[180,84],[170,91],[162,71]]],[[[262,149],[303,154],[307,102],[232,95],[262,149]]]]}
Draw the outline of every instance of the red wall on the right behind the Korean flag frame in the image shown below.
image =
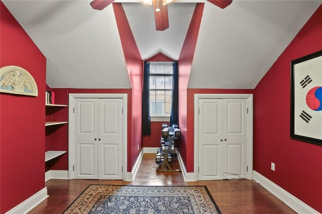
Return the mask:
{"type": "MultiPolygon", "coordinates": [[[[254,93],[254,170],[322,212],[322,146],[290,139],[290,61],[322,50],[322,6],[254,93]],[[275,172],[270,169],[276,165],[275,172]]],[[[321,71],[322,72],[322,71],[321,71]]]]}

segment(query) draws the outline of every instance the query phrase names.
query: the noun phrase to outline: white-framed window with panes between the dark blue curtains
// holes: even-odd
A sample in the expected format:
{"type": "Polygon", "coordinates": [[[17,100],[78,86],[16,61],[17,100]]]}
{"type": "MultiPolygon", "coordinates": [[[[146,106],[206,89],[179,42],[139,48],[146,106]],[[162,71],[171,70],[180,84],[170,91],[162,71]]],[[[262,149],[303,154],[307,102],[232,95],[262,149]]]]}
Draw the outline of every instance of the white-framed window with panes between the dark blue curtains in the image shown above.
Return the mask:
{"type": "Polygon", "coordinates": [[[170,117],[173,63],[151,62],[149,75],[150,116],[170,117]]]}

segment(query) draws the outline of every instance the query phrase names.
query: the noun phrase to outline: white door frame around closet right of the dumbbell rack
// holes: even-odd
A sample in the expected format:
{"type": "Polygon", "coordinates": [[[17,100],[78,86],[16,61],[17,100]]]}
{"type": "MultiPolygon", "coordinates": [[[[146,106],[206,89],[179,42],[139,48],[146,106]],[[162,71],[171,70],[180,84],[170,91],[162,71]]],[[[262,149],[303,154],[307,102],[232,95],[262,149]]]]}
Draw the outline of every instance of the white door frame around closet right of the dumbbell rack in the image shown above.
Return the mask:
{"type": "Polygon", "coordinates": [[[199,99],[209,98],[244,98],[248,101],[248,136],[247,136],[247,166],[246,178],[253,178],[253,94],[221,94],[221,93],[196,93],[194,95],[194,181],[198,181],[199,166],[199,99]]]}

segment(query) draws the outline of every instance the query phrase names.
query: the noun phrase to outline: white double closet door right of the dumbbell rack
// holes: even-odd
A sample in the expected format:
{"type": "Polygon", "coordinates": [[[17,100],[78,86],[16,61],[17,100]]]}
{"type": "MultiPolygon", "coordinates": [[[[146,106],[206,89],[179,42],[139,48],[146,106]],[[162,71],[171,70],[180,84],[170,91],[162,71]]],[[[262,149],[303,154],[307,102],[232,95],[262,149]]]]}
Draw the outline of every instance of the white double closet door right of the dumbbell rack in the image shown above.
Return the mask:
{"type": "Polygon", "coordinates": [[[247,172],[247,99],[199,99],[199,180],[247,172]],[[227,173],[229,172],[229,173],[227,173]]]}

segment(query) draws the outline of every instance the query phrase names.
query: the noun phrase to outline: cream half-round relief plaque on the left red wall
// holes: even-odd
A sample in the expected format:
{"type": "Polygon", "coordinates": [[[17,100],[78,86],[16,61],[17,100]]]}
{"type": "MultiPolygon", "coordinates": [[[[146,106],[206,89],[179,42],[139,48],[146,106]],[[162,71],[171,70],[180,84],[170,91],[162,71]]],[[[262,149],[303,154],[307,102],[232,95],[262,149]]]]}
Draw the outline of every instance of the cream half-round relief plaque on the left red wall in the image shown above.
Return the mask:
{"type": "Polygon", "coordinates": [[[26,69],[15,65],[0,68],[0,92],[38,96],[35,79],[26,69]]]}

